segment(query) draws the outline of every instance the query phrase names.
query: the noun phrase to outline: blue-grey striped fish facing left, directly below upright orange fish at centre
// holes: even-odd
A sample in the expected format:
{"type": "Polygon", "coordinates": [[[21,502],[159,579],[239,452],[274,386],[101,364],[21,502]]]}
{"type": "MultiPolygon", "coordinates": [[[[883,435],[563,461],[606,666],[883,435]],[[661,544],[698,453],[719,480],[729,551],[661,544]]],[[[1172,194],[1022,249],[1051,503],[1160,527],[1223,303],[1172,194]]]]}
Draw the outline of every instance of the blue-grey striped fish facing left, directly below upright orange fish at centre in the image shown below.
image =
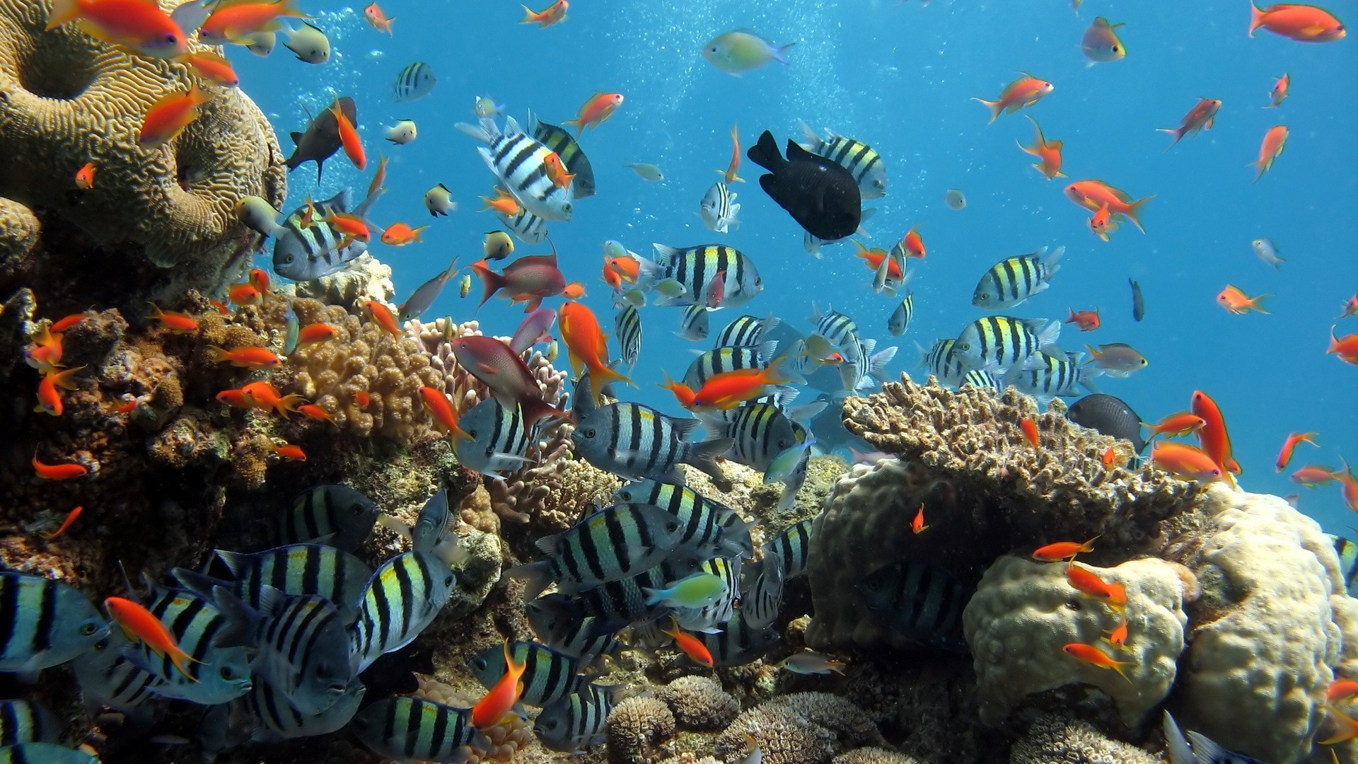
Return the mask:
{"type": "Polygon", "coordinates": [[[697,419],[675,419],[648,405],[618,401],[589,412],[570,438],[585,461],[627,480],[678,481],[679,465],[687,464],[725,484],[717,457],[727,453],[731,440],[690,443],[684,438],[697,426],[697,419]]]}

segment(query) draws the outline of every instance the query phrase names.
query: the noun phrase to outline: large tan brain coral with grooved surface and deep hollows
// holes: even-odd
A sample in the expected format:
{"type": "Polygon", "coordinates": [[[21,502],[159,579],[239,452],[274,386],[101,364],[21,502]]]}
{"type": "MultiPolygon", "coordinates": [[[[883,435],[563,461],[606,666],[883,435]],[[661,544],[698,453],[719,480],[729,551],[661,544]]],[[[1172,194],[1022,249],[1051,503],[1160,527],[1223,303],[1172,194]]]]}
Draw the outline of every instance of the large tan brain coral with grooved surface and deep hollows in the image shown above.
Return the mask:
{"type": "Polygon", "coordinates": [[[91,294],[80,299],[125,298],[132,287],[178,295],[234,276],[254,243],[235,203],[254,194],[277,205],[285,194],[269,121],[239,90],[206,84],[212,101],[194,124],[167,147],[141,148],[143,114],[189,88],[187,67],[128,54],[75,24],[43,31],[50,8],[50,0],[0,0],[0,155],[8,158],[0,196],[11,200],[0,219],[14,230],[24,218],[15,208],[38,212],[46,251],[0,265],[0,275],[22,265],[29,281],[61,283],[84,272],[91,294]],[[73,177],[87,162],[98,169],[94,188],[77,190],[73,177]],[[91,242],[106,257],[117,253],[110,268],[87,262],[80,250],[91,242]],[[143,260],[160,269],[141,268],[143,260]]]}

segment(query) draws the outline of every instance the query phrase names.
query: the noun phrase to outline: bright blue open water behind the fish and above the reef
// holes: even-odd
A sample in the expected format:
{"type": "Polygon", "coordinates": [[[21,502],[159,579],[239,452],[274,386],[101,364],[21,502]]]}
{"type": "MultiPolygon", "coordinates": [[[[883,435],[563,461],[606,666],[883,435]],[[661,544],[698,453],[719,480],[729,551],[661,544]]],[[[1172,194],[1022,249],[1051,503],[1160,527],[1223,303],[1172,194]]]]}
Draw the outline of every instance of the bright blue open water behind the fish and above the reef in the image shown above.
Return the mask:
{"type": "MultiPolygon", "coordinates": [[[[727,166],[732,122],[748,145],[763,129],[779,143],[800,137],[801,118],[866,141],[885,160],[888,194],[868,203],[879,208],[866,224],[872,246],[889,247],[910,226],[921,226],[929,254],[910,264],[915,317],[899,338],[892,375],[918,378],[914,343],[953,337],[986,313],[970,298],[990,265],[1065,245],[1052,288],[1002,313],[1063,319],[1067,309],[1099,309],[1103,326],[1081,334],[1066,325],[1062,347],[1122,341],[1150,360],[1128,379],[1099,381],[1103,392],[1146,420],[1186,409],[1196,389],[1207,392],[1225,412],[1245,489],[1301,492],[1300,507],[1331,532],[1351,522],[1335,487],[1298,491],[1272,465],[1293,431],[1319,431],[1323,447],[1301,446],[1289,473],[1302,464],[1339,466],[1340,457],[1358,461],[1358,368],[1324,353],[1340,303],[1358,291],[1353,39],[1301,44],[1267,31],[1251,39],[1245,0],[1088,0],[1078,14],[1063,0],[933,0],[928,7],[887,0],[580,0],[565,23],[550,29],[519,24],[516,3],[384,0],[382,7],[395,18],[392,37],[367,24],[361,5],[307,4],[335,50],[319,67],[291,60],[281,45],[268,60],[242,49],[230,56],[285,152],[287,135],[307,124],[304,107],[316,113],[331,91],[356,99],[369,160],[375,164],[379,150],[391,158],[388,193],[373,219],[430,224],[424,243],[373,245],[394,271],[398,300],[454,256],[463,265],[477,260],[482,232],[501,227],[492,213],[477,212],[477,197],[493,188],[478,143],[452,126],[474,121],[474,98],[492,94],[521,124],[530,109],[559,124],[598,90],[626,97],[610,121],[581,140],[598,194],[576,204],[572,222],[550,230],[566,279],[587,284],[584,302],[606,330],[614,310],[599,280],[604,239],[645,257],[653,254],[652,242],[721,242],[754,258],[765,291],[739,310],[712,314],[713,334],[740,313],[774,313],[809,332],[804,317],[815,299],[856,318],[865,337],[895,341],[885,321],[896,300],[872,294],[872,272],[853,257],[853,246],[809,257],[801,230],[759,190],[759,170],[748,160],[740,174],[750,182],[732,185],[741,224],[721,235],[697,216],[699,198],[718,179],[714,170],[727,166]],[[1085,65],[1080,39],[1096,15],[1126,22],[1118,27],[1124,60],[1085,65]],[[797,41],[790,65],[774,63],[735,77],[699,56],[703,42],[739,27],[778,44],[797,41]],[[432,65],[439,82],[421,101],[392,102],[397,72],[411,61],[432,65]],[[995,98],[1016,71],[1055,84],[1024,113],[1048,140],[1065,141],[1070,179],[1100,178],[1137,198],[1156,194],[1143,216],[1146,234],[1123,226],[1111,242],[1099,241],[1086,227],[1089,213],[1062,193],[1070,181],[1044,179],[1014,145],[1031,143],[1028,120],[1006,114],[986,124],[985,107],[971,98],[995,98]],[[1291,75],[1290,98],[1279,109],[1262,109],[1283,72],[1291,75]],[[1176,126],[1199,97],[1224,102],[1214,129],[1167,152],[1171,137],[1156,128],[1176,126]],[[418,139],[387,144],[382,128],[401,118],[418,124],[418,139]],[[1249,162],[1277,124],[1290,128],[1286,151],[1253,182],[1249,162]],[[656,163],[665,179],[649,184],[627,162],[656,163]],[[439,182],[452,190],[459,211],[432,219],[422,194],[439,182]],[[944,205],[949,188],[966,193],[966,209],[944,205]],[[1260,237],[1286,258],[1281,269],[1251,250],[1251,239],[1260,237]],[[1131,319],[1128,277],[1145,292],[1139,324],[1131,319]],[[1224,311],[1214,298],[1228,283],[1249,295],[1274,294],[1266,303],[1271,314],[1224,311]]],[[[1328,8],[1350,23],[1358,18],[1354,0],[1328,8]]],[[[340,155],[316,189],[314,166],[306,164],[289,178],[288,211],[308,192],[323,198],[345,185],[361,190],[369,177],[371,167],[360,175],[340,155]]],[[[546,243],[520,243],[516,256],[546,251],[546,243]]],[[[509,334],[523,317],[502,300],[478,313],[477,299],[479,284],[459,299],[449,283],[425,318],[478,318],[488,333],[509,334]]],[[[675,415],[683,411],[656,386],[661,370],[679,377],[690,348],[710,347],[672,334],[680,313],[641,310],[644,344],[633,372],[640,387],[622,393],[675,415]]],[[[1358,318],[1339,325],[1340,334],[1358,332],[1358,318]]]]}

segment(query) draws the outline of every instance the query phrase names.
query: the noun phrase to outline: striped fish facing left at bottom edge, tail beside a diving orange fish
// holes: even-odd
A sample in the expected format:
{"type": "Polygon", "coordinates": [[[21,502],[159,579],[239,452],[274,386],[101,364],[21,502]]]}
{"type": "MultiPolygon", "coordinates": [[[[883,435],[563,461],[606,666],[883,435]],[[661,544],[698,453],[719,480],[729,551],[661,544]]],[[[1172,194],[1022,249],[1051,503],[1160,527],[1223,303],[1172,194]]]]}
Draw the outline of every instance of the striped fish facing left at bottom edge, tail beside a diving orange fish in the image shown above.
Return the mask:
{"type": "Polygon", "coordinates": [[[422,697],[384,697],[350,722],[359,740],[397,761],[464,761],[470,745],[492,750],[494,744],[471,726],[471,708],[454,708],[422,697]]]}

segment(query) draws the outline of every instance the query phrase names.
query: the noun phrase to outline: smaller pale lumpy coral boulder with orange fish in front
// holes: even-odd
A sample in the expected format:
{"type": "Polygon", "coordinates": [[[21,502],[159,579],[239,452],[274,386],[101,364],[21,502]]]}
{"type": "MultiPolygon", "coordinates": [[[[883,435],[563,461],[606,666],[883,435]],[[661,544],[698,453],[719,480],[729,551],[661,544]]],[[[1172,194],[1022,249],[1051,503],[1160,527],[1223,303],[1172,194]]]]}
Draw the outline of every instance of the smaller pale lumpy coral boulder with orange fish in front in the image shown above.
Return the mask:
{"type": "MultiPolygon", "coordinates": [[[[982,576],[963,613],[983,722],[1002,722],[1029,695],[1082,682],[1112,697],[1122,719],[1135,726],[1168,695],[1187,621],[1179,575],[1153,557],[1112,568],[1081,567],[1126,587],[1130,636],[1124,647],[1101,642],[1123,613],[1073,589],[1065,564],[1001,557],[982,576]],[[1126,663],[1122,676],[1066,655],[1062,647],[1070,643],[1100,646],[1126,663]]],[[[1074,700],[1086,703],[1085,692],[1076,692],[1074,700]]],[[[1069,707],[1071,700],[1054,703],[1069,707]]]]}

